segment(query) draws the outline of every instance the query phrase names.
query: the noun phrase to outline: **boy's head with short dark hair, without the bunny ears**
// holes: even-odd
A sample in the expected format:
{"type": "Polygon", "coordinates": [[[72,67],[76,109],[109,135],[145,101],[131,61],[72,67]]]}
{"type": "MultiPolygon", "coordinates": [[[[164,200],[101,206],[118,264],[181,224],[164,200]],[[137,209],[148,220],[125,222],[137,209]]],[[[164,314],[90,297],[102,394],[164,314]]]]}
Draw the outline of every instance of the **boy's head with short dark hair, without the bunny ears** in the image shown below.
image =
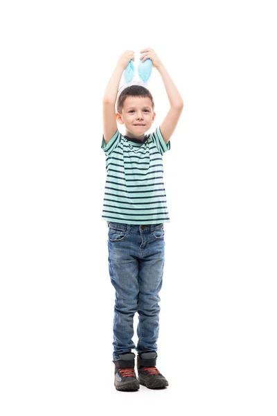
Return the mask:
{"type": "Polygon", "coordinates": [[[131,85],[118,96],[116,119],[125,124],[126,135],[143,139],[154,121],[154,101],[150,91],[141,85],[131,85]]]}

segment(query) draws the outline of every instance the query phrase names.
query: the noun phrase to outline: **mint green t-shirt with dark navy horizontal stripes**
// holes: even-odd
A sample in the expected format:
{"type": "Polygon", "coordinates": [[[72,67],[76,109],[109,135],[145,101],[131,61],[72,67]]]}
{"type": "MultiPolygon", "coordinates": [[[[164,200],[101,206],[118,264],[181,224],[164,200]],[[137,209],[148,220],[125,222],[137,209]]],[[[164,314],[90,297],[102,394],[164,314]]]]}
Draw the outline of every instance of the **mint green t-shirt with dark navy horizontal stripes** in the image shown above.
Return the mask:
{"type": "Polygon", "coordinates": [[[163,184],[163,153],[170,150],[160,128],[145,139],[130,139],[117,130],[105,144],[107,180],[102,219],[115,223],[147,225],[168,223],[163,184]]]}

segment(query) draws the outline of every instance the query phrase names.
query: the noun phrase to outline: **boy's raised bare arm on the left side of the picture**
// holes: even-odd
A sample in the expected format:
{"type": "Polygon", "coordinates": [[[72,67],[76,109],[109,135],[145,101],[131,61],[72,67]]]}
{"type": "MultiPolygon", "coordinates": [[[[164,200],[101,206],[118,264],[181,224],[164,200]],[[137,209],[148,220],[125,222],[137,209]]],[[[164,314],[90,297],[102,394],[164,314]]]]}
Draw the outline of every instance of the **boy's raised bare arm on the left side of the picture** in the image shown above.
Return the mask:
{"type": "Polygon", "coordinates": [[[111,140],[111,137],[114,136],[117,130],[115,112],[116,96],[121,76],[130,60],[134,60],[133,51],[125,51],[122,55],[120,55],[118,63],[116,64],[114,72],[112,73],[109,83],[105,89],[103,98],[103,132],[106,144],[111,140]]]}

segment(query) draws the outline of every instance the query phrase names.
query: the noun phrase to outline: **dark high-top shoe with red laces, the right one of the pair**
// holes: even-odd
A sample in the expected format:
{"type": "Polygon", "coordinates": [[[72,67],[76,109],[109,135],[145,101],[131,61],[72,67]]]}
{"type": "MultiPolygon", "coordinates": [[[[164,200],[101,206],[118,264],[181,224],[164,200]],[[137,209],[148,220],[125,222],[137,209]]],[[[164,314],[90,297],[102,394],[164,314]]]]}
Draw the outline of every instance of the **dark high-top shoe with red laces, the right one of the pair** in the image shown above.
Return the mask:
{"type": "Polygon", "coordinates": [[[147,388],[166,388],[168,381],[156,367],[157,352],[143,352],[138,356],[139,383],[147,388]]]}

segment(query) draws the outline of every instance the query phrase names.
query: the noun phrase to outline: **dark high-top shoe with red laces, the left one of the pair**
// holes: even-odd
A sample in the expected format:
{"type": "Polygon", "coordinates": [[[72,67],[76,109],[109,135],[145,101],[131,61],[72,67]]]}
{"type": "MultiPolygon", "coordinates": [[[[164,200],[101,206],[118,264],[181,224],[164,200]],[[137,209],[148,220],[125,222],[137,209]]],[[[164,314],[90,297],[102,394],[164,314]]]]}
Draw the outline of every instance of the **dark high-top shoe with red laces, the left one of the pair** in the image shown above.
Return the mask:
{"type": "Polygon", "coordinates": [[[139,390],[139,381],[134,372],[134,357],[132,352],[119,354],[120,360],[114,361],[114,385],[116,390],[134,392],[139,390]]]}

